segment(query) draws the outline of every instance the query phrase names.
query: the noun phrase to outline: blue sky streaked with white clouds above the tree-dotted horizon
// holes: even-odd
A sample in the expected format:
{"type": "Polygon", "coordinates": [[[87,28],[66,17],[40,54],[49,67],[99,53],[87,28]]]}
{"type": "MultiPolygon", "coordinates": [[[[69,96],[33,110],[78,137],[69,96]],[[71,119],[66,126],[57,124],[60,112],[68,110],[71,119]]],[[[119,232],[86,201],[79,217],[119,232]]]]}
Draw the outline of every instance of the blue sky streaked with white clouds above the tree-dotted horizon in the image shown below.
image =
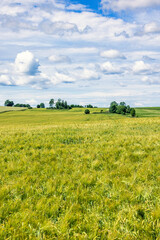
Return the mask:
{"type": "Polygon", "coordinates": [[[160,106],[160,0],[1,0],[0,105],[160,106]]]}

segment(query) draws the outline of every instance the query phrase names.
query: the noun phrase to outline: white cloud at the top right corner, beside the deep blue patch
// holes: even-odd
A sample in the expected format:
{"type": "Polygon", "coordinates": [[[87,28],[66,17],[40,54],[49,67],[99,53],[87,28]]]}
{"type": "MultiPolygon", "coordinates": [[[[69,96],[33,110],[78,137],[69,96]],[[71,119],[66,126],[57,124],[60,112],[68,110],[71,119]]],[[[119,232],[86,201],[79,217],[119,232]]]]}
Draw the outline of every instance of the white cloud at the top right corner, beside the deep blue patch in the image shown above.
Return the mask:
{"type": "Polygon", "coordinates": [[[159,0],[101,0],[104,10],[121,11],[126,9],[146,8],[160,6],[159,0]]]}

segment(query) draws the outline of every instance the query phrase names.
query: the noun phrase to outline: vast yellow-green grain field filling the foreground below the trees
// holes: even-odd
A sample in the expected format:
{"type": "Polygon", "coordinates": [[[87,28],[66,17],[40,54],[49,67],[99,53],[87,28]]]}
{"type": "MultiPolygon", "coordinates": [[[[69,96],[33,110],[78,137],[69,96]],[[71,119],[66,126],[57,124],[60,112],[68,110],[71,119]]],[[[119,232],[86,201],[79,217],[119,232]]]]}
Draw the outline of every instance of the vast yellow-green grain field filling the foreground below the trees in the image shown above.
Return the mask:
{"type": "Polygon", "coordinates": [[[0,114],[0,239],[160,240],[160,108],[136,112],[0,114]]]}

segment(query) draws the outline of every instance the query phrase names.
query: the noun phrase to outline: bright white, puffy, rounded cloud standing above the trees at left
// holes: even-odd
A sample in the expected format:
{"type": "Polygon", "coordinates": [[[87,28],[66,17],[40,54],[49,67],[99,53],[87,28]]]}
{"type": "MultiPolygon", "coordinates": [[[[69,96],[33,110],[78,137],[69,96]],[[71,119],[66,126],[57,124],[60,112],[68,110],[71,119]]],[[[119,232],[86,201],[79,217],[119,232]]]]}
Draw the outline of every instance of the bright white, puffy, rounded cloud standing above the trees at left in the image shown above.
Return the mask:
{"type": "Polygon", "coordinates": [[[39,61],[29,51],[21,52],[17,54],[15,59],[15,69],[18,73],[27,75],[36,75],[39,67],[39,61]]]}

